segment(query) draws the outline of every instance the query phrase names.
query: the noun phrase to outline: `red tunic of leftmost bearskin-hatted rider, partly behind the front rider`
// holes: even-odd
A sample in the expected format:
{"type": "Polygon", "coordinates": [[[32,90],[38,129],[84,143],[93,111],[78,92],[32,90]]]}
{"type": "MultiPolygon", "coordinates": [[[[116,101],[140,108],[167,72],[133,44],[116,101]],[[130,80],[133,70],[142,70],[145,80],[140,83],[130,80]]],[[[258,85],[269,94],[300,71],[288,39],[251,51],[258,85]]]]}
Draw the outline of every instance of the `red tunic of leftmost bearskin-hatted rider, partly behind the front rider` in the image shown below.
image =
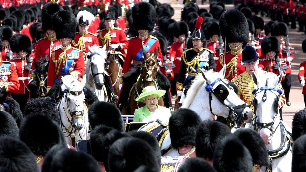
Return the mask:
{"type": "Polygon", "coordinates": [[[36,59],[40,59],[40,57],[42,58],[48,57],[50,59],[52,52],[60,49],[61,46],[62,44],[58,39],[55,39],[54,41],[51,41],[47,38],[40,39],[37,42],[36,48],[33,52],[32,57],[34,57],[34,60],[33,60],[31,69],[33,70],[35,69],[34,62],[36,59]],[[51,43],[53,44],[53,46],[51,46],[51,43]]]}

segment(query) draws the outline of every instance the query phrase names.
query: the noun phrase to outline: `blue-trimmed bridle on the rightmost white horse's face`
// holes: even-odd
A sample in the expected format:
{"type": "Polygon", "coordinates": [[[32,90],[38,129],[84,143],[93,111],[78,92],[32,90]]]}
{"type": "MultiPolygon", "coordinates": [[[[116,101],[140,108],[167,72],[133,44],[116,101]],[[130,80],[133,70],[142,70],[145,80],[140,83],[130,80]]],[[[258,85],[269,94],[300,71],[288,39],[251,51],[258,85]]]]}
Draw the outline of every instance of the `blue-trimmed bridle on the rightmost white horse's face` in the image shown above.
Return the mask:
{"type": "Polygon", "coordinates": [[[273,87],[268,87],[268,79],[266,80],[266,85],[263,86],[263,87],[260,87],[258,89],[255,89],[252,91],[252,93],[254,94],[254,99],[253,99],[253,106],[254,106],[254,120],[253,120],[253,126],[254,128],[257,130],[261,130],[262,128],[268,128],[272,134],[274,134],[276,132],[276,129],[277,127],[279,126],[279,124],[277,125],[277,127],[274,128],[274,122],[277,118],[277,115],[278,115],[278,96],[282,94],[282,91],[280,89],[276,89],[276,88],[273,88],[273,87]],[[263,102],[266,102],[267,100],[267,94],[266,92],[267,91],[271,91],[275,96],[276,98],[274,99],[274,111],[275,111],[275,115],[273,117],[273,120],[272,122],[269,122],[269,123],[261,123],[261,122],[258,122],[258,117],[256,116],[256,104],[257,104],[257,101],[256,101],[256,94],[260,93],[261,91],[264,91],[264,94],[261,98],[261,100],[263,102]],[[278,95],[275,94],[274,91],[277,91],[278,95]]]}

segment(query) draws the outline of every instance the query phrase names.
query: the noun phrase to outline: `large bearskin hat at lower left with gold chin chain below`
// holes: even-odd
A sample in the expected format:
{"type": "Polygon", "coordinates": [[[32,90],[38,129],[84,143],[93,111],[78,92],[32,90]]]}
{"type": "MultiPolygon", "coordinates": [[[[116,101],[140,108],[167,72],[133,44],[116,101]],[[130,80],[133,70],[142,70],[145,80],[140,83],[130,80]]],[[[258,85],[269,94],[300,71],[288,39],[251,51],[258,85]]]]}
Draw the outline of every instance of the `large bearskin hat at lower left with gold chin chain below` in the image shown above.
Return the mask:
{"type": "Polygon", "coordinates": [[[20,140],[26,143],[34,154],[42,156],[45,156],[55,144],[66,144],[63,143],[62,135],[59,125],[46,115],[26,116],[19,130],[20,140]]]}

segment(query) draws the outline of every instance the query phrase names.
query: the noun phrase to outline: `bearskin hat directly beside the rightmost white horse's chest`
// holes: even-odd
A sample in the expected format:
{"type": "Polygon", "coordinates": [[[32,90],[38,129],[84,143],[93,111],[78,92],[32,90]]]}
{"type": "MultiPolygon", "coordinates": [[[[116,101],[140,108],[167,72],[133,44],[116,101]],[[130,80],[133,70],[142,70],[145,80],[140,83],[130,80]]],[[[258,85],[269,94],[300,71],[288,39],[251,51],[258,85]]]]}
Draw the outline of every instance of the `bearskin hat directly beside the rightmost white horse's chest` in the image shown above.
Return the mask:
{"type": "Polygon", "coordinates": [[[259,164],[260,166],[267,166],[270,164],[266,145],[254,129],[241,128],[236,130],[234,135],[240,139],[247,149],[249,149],[253,164],[259,164]]]}

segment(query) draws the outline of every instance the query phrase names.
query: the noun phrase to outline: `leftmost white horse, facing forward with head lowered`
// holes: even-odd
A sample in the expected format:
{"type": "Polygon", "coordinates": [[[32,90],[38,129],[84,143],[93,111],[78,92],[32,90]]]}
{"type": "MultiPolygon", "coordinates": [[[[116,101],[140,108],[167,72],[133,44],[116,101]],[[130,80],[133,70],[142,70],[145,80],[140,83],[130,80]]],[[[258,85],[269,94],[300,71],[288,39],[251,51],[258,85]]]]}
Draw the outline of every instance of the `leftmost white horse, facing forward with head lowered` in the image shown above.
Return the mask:
{"type": "Polygon", "coordinates": [[[71,75],[62,77],[61,90],[63,96],[57,105],[61,116],[61,128],[66,136],[68,144],[77,143],[78,140],[89,140],[88,109],[85,105],[83,87],[86,83],[86,75],[82,82],[71,75]],[[74,143],[73,143],[74,142],[74,143]]]}

